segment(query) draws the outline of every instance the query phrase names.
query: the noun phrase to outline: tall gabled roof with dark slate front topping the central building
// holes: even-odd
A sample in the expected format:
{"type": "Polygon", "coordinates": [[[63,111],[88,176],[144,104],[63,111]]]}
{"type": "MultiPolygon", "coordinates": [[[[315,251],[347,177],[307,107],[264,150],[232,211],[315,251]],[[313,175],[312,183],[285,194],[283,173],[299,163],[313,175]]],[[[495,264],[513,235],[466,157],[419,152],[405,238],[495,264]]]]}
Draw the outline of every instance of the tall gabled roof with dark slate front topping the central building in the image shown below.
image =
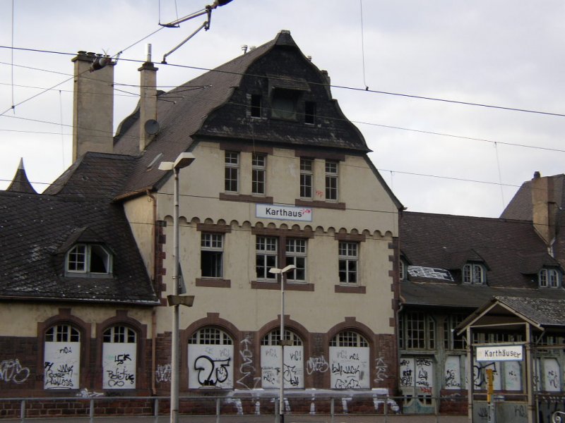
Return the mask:
{"type": "MultiPolygon", "coordinates": [[[[302,54],[290,32],[280,32],[261,47],[158,96],[160,132],[139,157],[118,197],[158,188],[167,173],[159,171],[158,163],[155,165],[154,161],[174,161],[198,140],[295,144],[301,148],[369,152],[359,130],[347,121],[330,96],[326,76],[302,54]],[[283,59],[287,59],[285,66],[278,66],[278,61],[283,59]],[[301,75],[315,75],[316,80],[301,75]],[[310,90],[323,92],[328,104],[331,104],[326,107],[327,113],[336,118],[328,120],[325,128],[300,125],[297,134],[292,133],[289,123],[280,125],[268,119],[251,123],[246,117],[247,100],[241,97],[245,93],[242,94],[240,88],[249,80],[258,79],[277,80],[279,85],[292,84],[293,89],[303,89],[302,85],[307,85],[310,90]]],[[[326,113],[326,110],[323,112],[326,113]]],[[[122,130],[114,137],[114,152],[133,157],[140,155],[138,136],[141,124],[136,111],[124,120],[122,130]]]]}

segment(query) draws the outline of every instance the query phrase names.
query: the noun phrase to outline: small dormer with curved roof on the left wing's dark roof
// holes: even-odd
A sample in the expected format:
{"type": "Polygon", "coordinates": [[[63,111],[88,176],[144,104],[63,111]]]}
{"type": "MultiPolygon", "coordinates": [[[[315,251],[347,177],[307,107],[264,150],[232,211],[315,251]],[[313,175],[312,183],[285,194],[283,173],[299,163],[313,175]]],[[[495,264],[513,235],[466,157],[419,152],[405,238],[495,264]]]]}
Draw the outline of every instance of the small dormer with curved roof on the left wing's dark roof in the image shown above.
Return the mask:
{"type": "Polygon", "coordinates": [[[75,231],[59,249],[64,253],[64,275],[111,277],[114,254],[91,228],[75,231]]]}

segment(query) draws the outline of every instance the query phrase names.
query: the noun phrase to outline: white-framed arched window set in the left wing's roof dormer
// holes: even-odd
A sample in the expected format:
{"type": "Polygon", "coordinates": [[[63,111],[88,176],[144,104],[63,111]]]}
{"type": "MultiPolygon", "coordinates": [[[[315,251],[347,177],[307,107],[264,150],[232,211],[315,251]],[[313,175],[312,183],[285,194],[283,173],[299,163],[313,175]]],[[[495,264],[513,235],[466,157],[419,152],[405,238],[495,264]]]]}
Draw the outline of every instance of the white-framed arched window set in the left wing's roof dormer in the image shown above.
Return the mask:
{"type": "MultiPolygon", "coordinates": [[[[108,277],[112,276],[114,259],[113,255],[109,250],[101,244],[89,244],[89,243],[76,243],[73,245],[65,255],[65,274],[66,276],[81,276],[81,277],[108,277]],[[81,252],[76,252],[76,250],[82,250],[81,252]],[[100,257],[101,263],[105,266],[106,271],[93,271],[93,264],[95,260],[93,255],[100,257]],[[82,259],[78,259],[78,256],[82,259]],[[80,265],[80,269],[71,269],[71,264],[74,267],[80,265]]],[[[94,264],[96,265],[96,264],[94,264]]]]}

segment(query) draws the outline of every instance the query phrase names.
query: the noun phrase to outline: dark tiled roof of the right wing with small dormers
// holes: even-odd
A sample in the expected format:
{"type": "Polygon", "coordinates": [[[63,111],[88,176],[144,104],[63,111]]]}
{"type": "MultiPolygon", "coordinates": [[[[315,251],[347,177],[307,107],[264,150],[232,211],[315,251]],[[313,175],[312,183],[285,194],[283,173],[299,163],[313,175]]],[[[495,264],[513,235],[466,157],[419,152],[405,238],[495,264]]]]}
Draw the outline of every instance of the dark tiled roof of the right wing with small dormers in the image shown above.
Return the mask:
{"type": "Polygon", "coordinates": [[[537,271],[558,266],[528,221],[403,212],[400,249],[413,266],[449,269],[455,282],[408,277],[401,295],[407,304],[478,307],[494,295],[551,298],[565,290],[537,289],[537,271]],[[482,262],[487,286],[460,283],[467,261],[482,262]]]}

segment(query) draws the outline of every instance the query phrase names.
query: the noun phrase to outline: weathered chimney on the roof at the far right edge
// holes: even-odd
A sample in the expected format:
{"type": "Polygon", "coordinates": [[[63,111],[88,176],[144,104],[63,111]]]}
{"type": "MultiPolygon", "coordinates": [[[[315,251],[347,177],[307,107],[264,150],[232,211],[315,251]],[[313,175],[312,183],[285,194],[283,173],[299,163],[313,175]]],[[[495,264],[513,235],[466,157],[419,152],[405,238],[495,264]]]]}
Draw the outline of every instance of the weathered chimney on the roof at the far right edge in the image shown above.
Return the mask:
{"type": "Polygon", "coordinates": [[[532,179],[532,215],[534,228],[549,251],[557,235],[557,203],[554,200],[553,178],[542,178],[540,172],[532,179]]]}

